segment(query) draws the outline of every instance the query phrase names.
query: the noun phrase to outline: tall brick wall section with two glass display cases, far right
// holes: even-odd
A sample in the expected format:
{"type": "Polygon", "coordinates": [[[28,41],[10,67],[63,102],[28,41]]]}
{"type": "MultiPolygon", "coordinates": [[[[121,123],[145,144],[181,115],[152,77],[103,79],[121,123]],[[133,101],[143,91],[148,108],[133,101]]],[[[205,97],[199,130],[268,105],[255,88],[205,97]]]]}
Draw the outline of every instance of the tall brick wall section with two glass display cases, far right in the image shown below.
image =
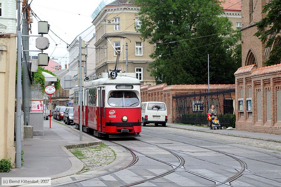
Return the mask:
{"type": "Polygon", "coordinates": [[[281,99],[277,97],[277,92],[281,91],[281,64],[260,68],[257,65],[244,66],[234,75],[235,105],[238,106],[239,98],[244,99],[243,112],[238,112],[238,107],[235,110],[236,129],[281,135],[281,120],[278,121],[281,99]],[[252,93],[252,112],[246,110],[249,89],[252,93]]]}

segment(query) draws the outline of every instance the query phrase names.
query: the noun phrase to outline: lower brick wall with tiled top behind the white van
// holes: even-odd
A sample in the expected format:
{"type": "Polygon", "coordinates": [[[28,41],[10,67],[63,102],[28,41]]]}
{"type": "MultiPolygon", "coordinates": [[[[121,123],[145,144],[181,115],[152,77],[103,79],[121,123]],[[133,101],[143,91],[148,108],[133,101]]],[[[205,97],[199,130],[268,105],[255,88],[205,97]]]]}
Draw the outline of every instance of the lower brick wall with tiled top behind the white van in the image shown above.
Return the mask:
{"type": "MultiPolygon", "coordinates": [[[[225,88],[234,86],[234,84],[210,84],[210,89],[225,88]]],[[[158,84],[151,86],[146,84],[141,86],[141,102],[159,101],[164,102],[167,107],[168,123],[173,123],[173,117],[176,116],[176,101],[173,100],[175,93],[189,93],[192,91],[199,91],[208,89],[207,84],[197,85],[167,85],[158,84]]]]}

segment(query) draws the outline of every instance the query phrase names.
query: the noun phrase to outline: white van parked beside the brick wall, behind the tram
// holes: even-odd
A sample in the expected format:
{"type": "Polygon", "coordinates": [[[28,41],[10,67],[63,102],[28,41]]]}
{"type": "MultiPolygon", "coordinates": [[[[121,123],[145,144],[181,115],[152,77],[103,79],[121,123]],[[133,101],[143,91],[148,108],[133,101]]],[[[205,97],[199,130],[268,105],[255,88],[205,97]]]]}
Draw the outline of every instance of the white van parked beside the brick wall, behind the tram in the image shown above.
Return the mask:
{"type": "Polygon", "coordinates": [[[162,124],[166,126],[168,121],[166,104],[163,102],[143,102],[141,103],[142,126],[154,123],[155,126],[162,124]]]}

